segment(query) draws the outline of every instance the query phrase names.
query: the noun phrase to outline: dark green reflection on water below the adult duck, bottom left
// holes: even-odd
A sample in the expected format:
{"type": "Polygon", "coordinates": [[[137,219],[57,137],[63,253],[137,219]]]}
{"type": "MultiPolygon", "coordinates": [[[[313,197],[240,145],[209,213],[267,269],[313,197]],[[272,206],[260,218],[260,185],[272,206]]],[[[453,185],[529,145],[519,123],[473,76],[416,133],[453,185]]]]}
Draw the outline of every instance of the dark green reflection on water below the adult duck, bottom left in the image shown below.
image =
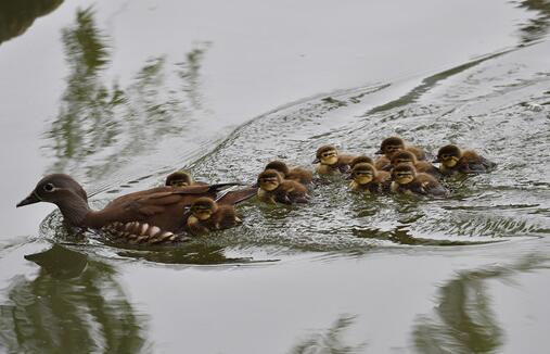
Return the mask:
{"type": "Polygon", "coordinates": [[[137,315],[115,269],[54,245],[25,256],[36,279],[13,278],[0,305],[0,349],[8,353],[149,352],[146,318],[137,315]]]}

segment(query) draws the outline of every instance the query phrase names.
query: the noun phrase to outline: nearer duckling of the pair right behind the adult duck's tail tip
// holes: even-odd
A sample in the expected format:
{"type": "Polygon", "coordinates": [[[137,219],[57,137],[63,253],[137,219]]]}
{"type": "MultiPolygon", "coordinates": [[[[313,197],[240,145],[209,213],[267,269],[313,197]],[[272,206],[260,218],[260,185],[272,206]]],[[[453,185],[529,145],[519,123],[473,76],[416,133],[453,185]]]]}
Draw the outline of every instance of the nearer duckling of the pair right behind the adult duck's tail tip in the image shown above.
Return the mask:
{"type": "Polygon", "coordinates": [[[266,203],[293,204],[307,203],[309,200],[306,187],[295,180],[283,179],[276,169],[259,174],[258,187],[258,198],[266,203]]]}

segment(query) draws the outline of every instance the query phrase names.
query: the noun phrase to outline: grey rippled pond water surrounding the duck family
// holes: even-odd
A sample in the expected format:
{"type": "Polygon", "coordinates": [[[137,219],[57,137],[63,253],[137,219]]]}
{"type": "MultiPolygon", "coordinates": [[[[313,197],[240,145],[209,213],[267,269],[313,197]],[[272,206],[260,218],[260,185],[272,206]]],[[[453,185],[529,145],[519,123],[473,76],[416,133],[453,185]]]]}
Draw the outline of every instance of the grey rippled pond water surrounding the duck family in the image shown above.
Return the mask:
{"type": "Polygon", "coordinates": [[[0,5],[0,352],[545,352],[549,26],[547,1],[0,5]],[[101,207],[177,168],[252,182],[391,135],[498,168],[445,199],[336,179],[161,249],[14,207],[51,172],[101,207]]]}

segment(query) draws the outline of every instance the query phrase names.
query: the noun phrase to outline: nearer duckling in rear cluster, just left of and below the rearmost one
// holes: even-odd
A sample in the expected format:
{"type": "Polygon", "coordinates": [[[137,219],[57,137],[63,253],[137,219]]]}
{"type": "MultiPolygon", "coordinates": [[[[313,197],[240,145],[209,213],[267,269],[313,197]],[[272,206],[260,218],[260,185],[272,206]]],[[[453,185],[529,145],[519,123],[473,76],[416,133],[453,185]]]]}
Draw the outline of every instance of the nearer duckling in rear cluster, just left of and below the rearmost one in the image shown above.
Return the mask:
{"type": "Polygon", "coordinates": [[[445,195],[447,190],[429,174],[417,173],[414,166],[399,164],[392,169],[391,190],[396,193],[445,195]]]}

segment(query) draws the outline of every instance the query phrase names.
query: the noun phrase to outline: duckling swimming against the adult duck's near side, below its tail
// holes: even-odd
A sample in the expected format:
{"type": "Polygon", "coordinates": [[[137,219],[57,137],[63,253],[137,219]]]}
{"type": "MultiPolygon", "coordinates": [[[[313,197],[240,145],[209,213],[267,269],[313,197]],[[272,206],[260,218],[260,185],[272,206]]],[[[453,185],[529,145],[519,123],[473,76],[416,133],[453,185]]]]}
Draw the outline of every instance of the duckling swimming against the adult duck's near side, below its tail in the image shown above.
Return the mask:
{"type": "Polygon", "coordinates": [[[192,235],[207,235],[209,231],[228,229],[241,223],[233,205],[218,205],[213,199],[203,197],[191,204],[187,227],[192,235]]]}

